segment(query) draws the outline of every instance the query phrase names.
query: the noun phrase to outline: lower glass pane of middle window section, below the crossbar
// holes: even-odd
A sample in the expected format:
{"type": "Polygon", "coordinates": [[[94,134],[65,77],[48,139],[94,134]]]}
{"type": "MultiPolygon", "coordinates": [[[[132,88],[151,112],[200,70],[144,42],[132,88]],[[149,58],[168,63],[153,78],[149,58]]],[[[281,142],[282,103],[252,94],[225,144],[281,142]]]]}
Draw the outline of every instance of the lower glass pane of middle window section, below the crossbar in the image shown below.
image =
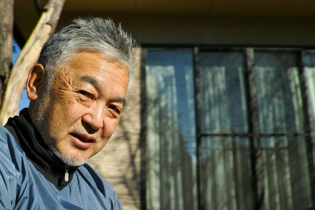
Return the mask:
{"type": "Polygon", "coordinates": [[[249,139],[204,137],[201,148],[200,187],[204,209],[252,210],[249,139]]]}

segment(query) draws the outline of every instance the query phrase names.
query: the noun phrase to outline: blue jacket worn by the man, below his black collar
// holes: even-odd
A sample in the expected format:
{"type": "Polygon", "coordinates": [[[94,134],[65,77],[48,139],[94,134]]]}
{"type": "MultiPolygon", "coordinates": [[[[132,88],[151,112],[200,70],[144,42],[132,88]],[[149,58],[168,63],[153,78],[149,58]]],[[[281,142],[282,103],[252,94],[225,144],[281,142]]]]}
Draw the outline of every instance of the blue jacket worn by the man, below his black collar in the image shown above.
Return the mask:
{"type": "Polygon", "coordinates": [[[110,184],[89,164],[77,168],[58,190],[26,157],[16,139],[0,126],[0,210],[115,209],[122,206],[110,184]]]}

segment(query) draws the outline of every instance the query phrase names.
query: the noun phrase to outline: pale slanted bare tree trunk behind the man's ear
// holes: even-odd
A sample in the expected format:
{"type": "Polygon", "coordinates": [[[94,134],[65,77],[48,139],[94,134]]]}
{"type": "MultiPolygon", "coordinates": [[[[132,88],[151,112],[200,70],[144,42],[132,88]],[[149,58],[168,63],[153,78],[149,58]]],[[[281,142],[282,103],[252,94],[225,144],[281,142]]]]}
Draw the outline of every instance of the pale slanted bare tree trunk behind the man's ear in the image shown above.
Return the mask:
{"type": "Polygon", "coordinates": [[[13,66],[3,96],[0,124],[5,124],[9,117],[18,114],[19,100],[25,88],[28,72],[36,64],[42,46],[55,30],[64,2],[65,0],[49,0],[47,2],[37,26],[13,66]]]}

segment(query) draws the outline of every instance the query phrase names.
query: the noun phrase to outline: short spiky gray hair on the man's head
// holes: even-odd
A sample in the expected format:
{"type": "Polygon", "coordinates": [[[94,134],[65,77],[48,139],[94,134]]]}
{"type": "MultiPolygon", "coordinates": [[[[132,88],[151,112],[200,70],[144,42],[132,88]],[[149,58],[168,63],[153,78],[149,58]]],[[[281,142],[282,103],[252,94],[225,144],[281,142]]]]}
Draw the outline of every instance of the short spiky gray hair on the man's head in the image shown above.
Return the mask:
{"type": "Polygon", "coordinates": [[[46,91],[52,87],[56,69],[66,65],[69,57],[80,51],[95,51],[125,65],[128,69],[128,89],[136,67],[135,53],[139,49],[130,34],[111,19],[77,18],[72,24],[54,33],[44,44],[38,62],[45,67],[46,91]]]}

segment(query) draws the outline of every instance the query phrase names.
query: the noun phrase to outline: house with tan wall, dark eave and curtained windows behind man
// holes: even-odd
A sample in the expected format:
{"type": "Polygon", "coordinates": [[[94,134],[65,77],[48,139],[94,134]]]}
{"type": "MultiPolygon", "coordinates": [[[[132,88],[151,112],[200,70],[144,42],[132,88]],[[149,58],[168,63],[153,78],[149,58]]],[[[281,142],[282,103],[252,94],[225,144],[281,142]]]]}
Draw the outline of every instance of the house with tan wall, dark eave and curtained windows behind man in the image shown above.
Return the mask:
{"type": "MultiPolygon", "coordinates": [[[[90,160],[125,210],[315,206],[314,10],[312,0],[66,1],[59,28],[110,17],[142,45],[121,122],[90,160]]],[[[33,2],[16,0],[15,18],[26,39],[33,2]]]]}

